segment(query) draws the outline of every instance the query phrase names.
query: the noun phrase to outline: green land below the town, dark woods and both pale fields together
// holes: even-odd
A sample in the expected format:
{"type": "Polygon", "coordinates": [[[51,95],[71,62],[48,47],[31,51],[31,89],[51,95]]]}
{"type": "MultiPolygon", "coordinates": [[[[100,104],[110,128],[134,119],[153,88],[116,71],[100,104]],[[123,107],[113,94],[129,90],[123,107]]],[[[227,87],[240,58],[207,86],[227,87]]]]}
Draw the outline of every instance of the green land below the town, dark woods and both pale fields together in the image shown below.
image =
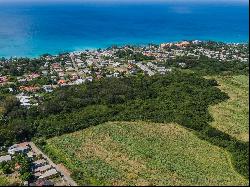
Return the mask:
{"type": "Polygon", "coordinates": [[[247,185],[248,77],[212,78],[102,79],[56,90],[37,110],[9,102],[0,143],[40,140],[79,184],[247,185]]]}

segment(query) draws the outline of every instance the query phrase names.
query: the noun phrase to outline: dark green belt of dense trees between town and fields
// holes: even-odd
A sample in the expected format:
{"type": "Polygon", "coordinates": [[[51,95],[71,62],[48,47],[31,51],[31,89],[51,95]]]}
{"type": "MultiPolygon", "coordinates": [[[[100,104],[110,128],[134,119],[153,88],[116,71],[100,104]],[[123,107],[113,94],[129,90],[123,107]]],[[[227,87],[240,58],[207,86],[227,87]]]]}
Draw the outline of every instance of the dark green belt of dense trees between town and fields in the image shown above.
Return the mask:
{"type": "Polygon", "coordinates": [[[166,76],[107,78],[65,87],[46,97],[38,108],[23,110],[10,102],[7,106],[12,107],[7,107],[4,114],[8,125],[0,129],[2,142],[53,137],[107,121],[174,122],[225,148],[237,171],[248,177],[248,144],[209,125],[213,118],[208,107],[229,98],[216,86],[215,80],[174,72],[166,76]]]}

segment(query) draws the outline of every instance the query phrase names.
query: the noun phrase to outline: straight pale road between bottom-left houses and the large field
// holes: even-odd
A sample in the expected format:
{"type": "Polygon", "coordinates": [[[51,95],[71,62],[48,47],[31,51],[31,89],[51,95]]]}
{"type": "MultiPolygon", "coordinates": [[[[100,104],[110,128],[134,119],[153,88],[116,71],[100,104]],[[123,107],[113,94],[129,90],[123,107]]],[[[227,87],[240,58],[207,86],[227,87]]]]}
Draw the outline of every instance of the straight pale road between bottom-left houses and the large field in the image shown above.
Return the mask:
{"type": "Polygon", "coordinates": [[[76,184],[76,182],[66,173],[64,172],[60,166],[56,165],[49,157],[47,157],[47,155],[45,155],[33,142],[28,142],[29,145],[31,146],[32,150],[36,153],[36,154],[41,154],[48,162],[51,166],[53,166],[54,168],[56,168],[57,171],[59,171],[61,173],[61,175],[63,176],[63,179],[65,181],[67,181],[67,183],[70,186],[78,186],[76,184]]]}

